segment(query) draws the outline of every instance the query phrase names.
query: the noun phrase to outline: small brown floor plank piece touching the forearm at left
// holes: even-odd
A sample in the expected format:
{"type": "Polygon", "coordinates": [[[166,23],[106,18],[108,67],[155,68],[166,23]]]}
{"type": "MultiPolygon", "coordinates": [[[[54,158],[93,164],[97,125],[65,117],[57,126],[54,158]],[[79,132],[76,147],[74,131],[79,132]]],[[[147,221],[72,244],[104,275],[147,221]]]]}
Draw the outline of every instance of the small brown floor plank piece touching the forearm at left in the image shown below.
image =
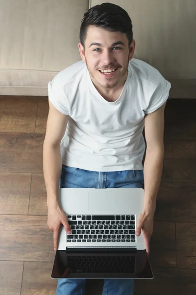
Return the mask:
{"type": "Polygon", "coordinates": [[[32,174],[29,215],[48,215],[47,191],[43,174],[32,174]]]}

